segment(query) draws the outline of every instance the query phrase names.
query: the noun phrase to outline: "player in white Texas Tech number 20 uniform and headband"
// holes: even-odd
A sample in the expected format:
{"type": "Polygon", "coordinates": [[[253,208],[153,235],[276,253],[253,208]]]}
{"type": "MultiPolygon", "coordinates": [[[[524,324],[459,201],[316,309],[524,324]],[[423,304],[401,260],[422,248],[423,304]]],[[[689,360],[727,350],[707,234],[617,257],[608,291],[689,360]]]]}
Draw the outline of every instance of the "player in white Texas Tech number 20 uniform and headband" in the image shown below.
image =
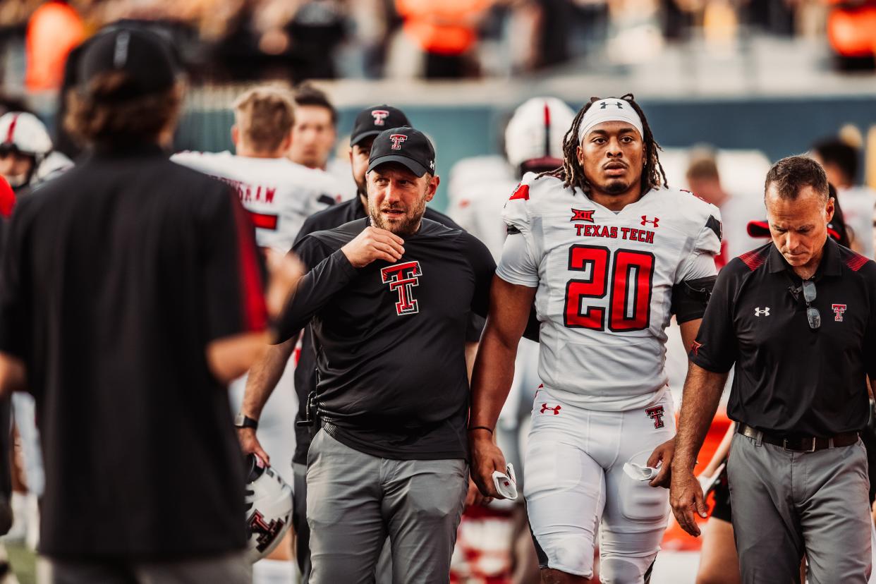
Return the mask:
{"type": "Polygon", "coordinates": [[[505,205],[508,237],[475,365],[472,475],[498,497],[505,458],[491,433],[512,383],[530,306],[539,376],[524,496],[543,583],[650,578],[668,520],[674,452],[663,368],[673,314],[689,345],[720,250],[716,207],[670,189],[632,95],[591,100],[566,134],[563,165],[527,174],[505,205]],[[599,539],[597,542],[597,533],[599,539]]]}

